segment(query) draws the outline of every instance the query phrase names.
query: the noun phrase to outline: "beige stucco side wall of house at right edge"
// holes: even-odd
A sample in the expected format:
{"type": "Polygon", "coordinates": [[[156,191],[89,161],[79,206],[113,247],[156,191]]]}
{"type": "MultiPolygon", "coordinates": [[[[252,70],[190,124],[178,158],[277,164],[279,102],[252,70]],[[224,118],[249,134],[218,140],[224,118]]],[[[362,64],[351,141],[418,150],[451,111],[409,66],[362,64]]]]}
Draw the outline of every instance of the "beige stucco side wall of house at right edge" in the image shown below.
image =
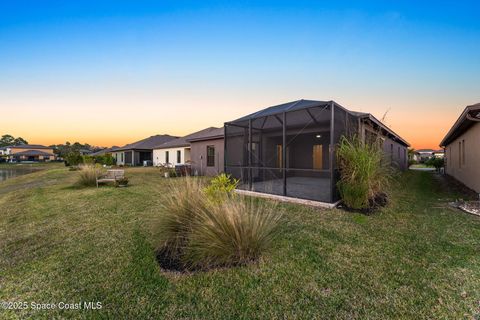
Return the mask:
{"type": "Polygon", "coordinates": [[[445,172],[480,193],[480,123],[474,124],[446,146],[445,172]],[[459,142],[465,141],[465,163],[460,163],[459,142]]]}

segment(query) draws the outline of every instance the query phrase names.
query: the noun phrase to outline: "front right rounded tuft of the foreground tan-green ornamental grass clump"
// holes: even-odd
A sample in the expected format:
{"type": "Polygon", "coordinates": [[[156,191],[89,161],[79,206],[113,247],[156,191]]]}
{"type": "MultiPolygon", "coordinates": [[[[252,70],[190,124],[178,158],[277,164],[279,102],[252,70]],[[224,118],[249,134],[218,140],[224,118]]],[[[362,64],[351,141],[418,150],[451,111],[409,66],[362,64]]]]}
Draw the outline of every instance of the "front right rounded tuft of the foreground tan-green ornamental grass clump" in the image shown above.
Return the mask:
{"type": "Polygon", "coordinates": [[[243,265],[257,260],[278,235],[275,205],[229,197],[199,212],[185,253],[193,268],[243,265]]]}

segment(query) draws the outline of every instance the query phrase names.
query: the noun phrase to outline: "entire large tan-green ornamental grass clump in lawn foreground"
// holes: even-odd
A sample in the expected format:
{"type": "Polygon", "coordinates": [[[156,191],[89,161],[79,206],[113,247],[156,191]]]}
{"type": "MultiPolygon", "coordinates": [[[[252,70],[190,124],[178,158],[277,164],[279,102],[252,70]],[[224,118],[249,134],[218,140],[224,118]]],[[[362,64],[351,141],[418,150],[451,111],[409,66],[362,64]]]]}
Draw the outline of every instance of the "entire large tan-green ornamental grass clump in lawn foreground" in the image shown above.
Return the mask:
{"type": "Polygon", "coordinates": [[[158,251],[167,264],[181,269],[208,269],[245,264],[268,250],[278,234],[275,205],[241,197],[211,201],[200,179],[171,183],[154,226],[158,251]]]}

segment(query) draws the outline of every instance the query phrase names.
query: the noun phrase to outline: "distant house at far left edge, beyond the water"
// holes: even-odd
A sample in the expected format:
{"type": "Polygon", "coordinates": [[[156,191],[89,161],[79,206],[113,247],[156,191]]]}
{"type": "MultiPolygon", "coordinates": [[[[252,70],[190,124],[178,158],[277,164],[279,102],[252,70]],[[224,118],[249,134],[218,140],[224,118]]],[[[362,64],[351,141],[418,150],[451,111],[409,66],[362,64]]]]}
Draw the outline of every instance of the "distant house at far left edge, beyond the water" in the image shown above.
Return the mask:
{"type": "Polygon", "coordinates": [[[3,154],[8,162],[43,162],[55,160],[53,148],[39,144],[24,144],[3,148],[3,154]]]}

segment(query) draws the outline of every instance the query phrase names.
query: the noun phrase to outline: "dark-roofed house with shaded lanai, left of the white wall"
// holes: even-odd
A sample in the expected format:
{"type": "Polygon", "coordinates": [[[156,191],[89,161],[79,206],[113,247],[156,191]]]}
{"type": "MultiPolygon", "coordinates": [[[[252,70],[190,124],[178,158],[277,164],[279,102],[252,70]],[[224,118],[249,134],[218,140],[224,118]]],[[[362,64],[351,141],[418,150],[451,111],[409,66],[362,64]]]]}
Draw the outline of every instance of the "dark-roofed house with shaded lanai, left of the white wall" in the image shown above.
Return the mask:
{"type": "Polygon", "coordinates": [[[112,150],[116,164],[119,166],[140,166],[144,161],[151,163],[153,159],[153,148],[178,137],[168,134],[151,136],[149,138],[127,144],[123,147],[112,150]]]}

